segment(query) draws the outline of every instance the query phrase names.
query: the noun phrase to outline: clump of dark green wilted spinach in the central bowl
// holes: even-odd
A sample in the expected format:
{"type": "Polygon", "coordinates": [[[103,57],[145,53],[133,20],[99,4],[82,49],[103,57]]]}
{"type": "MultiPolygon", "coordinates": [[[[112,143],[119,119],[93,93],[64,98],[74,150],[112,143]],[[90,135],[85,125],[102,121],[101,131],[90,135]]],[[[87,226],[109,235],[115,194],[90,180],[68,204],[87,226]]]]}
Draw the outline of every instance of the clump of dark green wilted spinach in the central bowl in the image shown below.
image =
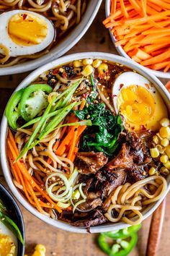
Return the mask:
{"type": "Polygon", "coordinates": [[[112,155],[117,148],[117,139],[122,131],[120,116],[113,116],[112,112],[105,108],[104,103],[92,103],[82,111],[75,111],[75,114],[81,120],[91,119],[92,123],[81,137],[81,150],[102,151],[112,155]]]}

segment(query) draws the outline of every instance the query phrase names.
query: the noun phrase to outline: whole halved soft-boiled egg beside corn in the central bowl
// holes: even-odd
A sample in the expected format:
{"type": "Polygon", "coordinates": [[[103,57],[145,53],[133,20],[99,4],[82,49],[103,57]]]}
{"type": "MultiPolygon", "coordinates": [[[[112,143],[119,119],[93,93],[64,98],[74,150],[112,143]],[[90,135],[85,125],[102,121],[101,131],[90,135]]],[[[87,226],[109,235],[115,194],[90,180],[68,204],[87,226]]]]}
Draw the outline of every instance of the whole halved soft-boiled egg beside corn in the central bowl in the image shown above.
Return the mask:
{"type": "Polygon", "coordinates": [[[112,88],[115,111],[125,119],[128,130],[156,131],[159,121],[168,117],[166,105],[146,77],[135,72],[120,74],[112,88]]]}

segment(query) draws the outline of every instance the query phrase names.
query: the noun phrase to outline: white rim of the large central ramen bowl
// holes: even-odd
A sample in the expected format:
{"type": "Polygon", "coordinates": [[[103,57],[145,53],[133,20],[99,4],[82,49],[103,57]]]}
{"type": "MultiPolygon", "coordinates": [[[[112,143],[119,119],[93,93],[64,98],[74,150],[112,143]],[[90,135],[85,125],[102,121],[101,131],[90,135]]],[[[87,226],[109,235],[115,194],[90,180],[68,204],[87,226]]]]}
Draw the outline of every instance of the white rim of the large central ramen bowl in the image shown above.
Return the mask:
{"type": "MultiPolygon", "coordinates": [[[[148,72],[148,70],[145,67],[140,66],[139,64],[136,64],[134,61],[131,61],[130,59],[125,59],[121,56],[113,55],[113,54],[106,54],[106,53],[98,53],[98,52],[89,52],[89,53],[81,53],[81,54],[71,54],[68,56],[63,56],[55,61],[52,61],[45,66],[40,67],[39,69],[36,69],[34,72],[29,74],[28,77],[26,77],[21,84],[17,87],[16,90],[20,90],[21,88],[26,87],[27,85],[30,85],[32,81],[34,81],[42,72],[47,71],[48,69],[53,69],[54,67],[57,67],[58,65],[65,64],[69,61],[74,61],[77,59],[86,59],[86,58],[92,58],[92,59],[106,59],[108,61],[113,61],[117,62],[119,64],[123,64],[127,67],[130,67],[131,69],[136,70],[148,80],[150,80],[153,85],[156,87],[156,89],[159,91],[161,96],[164,98],[164,101],[167,105],[167,107],[170,109],[170,95],[164,85],[155,77],[151,72],[148,72]]],[[[9,186],[9,188],[12,190],[12,193],[15,197],[17,197],[17,200],[26,208],[27,210],[30,211],[34,216],[37,216],[37,218],[40,218],[42,221],[45,221],[46,223],[49,223],[52,226],[55,226],[59,229],[64,229],[66,231],[72,231],[76,233],[86,233],[86,228],[80,228],[80,227],[75,227],[71,226],[69,223],[63,222],[63,221],[55,221],[52,218],[48,218],[47,216],[42,215],[39,213],[35,208],[33,208],[27,200],[24,199],[22,194],[19,192],[17,187],[14,186],[12,182],[12,175],[9,170],[9,165],[6,159],[6,130],[7,130],[7,120],[6,116],[4,114],[2,121],[1,121],[1,166],[2,170],[4,172],[4,177],[6,179],[6,182],[9,186]]],[[[170,189],[170,176],[167,177],[167,182],[168,182],[168,188],[164,194],[164,197],[166,196],[166,193],[170,189]]],[[[150,205],[150,207],[145,211],[143,217],[147,218],[148,216],[153,213],[154,210],[158,207],[158,205],[161,203],[161,201],[164,199],[162,197],[158,202],[156,202],[153,205],[150,205]]],[[[104,231],[112,231],[115,229],[123,229],[128,224],[125,223],[107,223],[101,226],[94,226],[91,227],[91,233],[99,233],[99,232],[104,232],[104,231]]]]}

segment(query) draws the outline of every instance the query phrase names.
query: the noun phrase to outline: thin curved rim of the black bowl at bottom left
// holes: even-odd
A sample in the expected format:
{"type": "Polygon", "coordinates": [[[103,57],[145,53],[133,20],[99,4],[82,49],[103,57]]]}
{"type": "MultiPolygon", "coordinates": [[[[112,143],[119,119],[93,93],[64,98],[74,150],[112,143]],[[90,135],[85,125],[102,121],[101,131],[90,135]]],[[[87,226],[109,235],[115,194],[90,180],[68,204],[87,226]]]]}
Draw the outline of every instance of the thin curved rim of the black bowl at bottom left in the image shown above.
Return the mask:
{"type": "MultiPolygon", "coordinates": [[[[23,216],[22,216],[21,209],[19,208],[19,205],[17,204],[16,200],[11,195],[11,193],[1,183],[0,183],[0,192],[2,192],[8,198],[8,201],[10,201],[12,203],[12,208],[14,208],[15,211],[16,211],[16,216],[17,216],[17,219],[19,221],[20,228],[21,228],[20,231],[21,231],[21,234],[23,236],[23,240],[25,242],[24,219],[23,219],[23,216]]],[[[17,241],[19,242],[18,239],[17,239],[17,241]]],[[[19,253],[20,253],[19,255],[24,256],[24,245],[21,242],[19,242],[18,249],[19,249],[19,253]]]]}

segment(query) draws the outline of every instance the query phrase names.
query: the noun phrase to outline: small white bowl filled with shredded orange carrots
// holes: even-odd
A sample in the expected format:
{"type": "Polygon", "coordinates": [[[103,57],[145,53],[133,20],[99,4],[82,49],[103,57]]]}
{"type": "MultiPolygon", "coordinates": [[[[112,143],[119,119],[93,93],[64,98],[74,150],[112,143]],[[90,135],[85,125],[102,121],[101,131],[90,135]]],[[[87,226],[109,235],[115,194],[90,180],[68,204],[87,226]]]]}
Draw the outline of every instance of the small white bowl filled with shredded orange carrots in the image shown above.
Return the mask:
{"type": "Polygon", "coordinates": [[[169,0],[107,0],[103,21],[120,55],[170,78],[169,0]]]}

